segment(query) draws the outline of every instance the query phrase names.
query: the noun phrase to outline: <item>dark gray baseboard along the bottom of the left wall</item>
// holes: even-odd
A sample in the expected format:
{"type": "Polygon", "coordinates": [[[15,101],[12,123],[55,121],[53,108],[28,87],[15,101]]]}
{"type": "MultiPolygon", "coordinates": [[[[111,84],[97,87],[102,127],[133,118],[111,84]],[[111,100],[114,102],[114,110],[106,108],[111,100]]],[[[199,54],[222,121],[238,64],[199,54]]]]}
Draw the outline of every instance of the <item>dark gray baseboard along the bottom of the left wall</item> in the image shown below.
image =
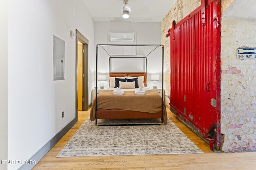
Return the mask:
{"type": "MultiPolygon", "coordinates": [[[[39,149],[29,160],[36,161],[36,164],[49,152],[52,147],[76,124],[75,117],[68,125],[59,131],[50,141],[48,141],[41,149],[39,149]]],[[[31,170],[36,164],[23,164],[19,170],[31,170]]]]}

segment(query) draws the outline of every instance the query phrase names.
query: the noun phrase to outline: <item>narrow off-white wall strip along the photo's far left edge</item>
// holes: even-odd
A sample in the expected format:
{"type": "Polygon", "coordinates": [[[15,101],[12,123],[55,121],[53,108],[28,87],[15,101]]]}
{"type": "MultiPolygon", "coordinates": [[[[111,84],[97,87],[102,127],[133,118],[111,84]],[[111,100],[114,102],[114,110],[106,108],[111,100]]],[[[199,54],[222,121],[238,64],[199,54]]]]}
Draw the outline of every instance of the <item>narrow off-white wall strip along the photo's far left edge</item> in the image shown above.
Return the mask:
{"type": "MultiPolygon", "coordinates": [[[[7,160],[7,42],[8,42],[8,0],[0,5],[0,160],[7,160]]],[[[0,164],[0,169],[7,168],[0,164]]]]}

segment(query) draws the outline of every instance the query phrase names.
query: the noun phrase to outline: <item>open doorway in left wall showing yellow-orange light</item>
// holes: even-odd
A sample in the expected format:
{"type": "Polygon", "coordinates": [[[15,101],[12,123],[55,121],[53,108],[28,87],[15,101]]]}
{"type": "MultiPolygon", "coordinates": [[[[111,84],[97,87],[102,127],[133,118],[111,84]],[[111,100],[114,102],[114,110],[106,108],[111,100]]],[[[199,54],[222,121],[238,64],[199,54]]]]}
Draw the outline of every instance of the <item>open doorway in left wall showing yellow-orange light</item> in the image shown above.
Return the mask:
{"type": "Polygon", "coordinates": [[[76,117],[88,110],[88,39],[76,29],[76,117]]]}

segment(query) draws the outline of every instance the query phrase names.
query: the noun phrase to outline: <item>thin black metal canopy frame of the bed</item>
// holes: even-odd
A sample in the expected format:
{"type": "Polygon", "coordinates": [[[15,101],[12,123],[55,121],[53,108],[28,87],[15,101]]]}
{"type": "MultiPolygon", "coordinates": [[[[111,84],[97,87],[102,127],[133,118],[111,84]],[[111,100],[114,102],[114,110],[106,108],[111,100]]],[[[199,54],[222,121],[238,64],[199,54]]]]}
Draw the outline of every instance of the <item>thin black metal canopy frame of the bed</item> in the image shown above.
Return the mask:
{"type": "MultiPolygon", "coordinates": [[[[158,47],[162,47],[162,69],[161,69],[161,76],[162,76],[162,110],[163,110],[163,105],[164,105],[164,90],[163,90],[163,86],[164,86],[164,75],[163,75],[163,72],[164,72],[164,45],[124,45],[124,44],[98,44],[96,45],[96,96],[95,96],[95,125],[96,126],[112,126],[113,124],[109,124],[109,125],[106,125],[106,124],[97,124],[97,87],[98,87],[98,48],[99,47],[102,47],[104,49],[104,51],[106,52],[106,54],[109,56],[109,60],[108,60],[108,71],[109,73],[111,72],[111,59],[145,59],[145,72],[146,72],[146,76],[147,76],[147,57],[153,52],[155,51],[158,47]],[[111,55],[108,53],[108,51],[104,48],[104,47],[108,47],[108,46],[134,46],[134,47],[143,47],[143,46],[152,46],[152,47],[155,47],[154,49],[152,49],[147,55],[145,55],[144,57],[134,57],[134,55],[124,55],[125,57],[116,57],[118,55],[111,55]]],[[[137,49],[135,49],[137,50],[137,49]]],[[[119,55],[120,56],[120,55],[119,55]]],[[[163,114],[163,111],[162,111],[162,114],[163,114]]],[[[163,123],[163,115],[162,115],[162,123],[163,123]]],[[[161,124],[162,124],[161,123],[161,124]]],[[[156,124],[156,123],[148,123],[148,124],[125,124],[125,125],[161,125],[160,123],[159,124],[156,124]]],[[[114,124],[115,126],[116,125],[123,125],[123,124],[114,124]]]]}

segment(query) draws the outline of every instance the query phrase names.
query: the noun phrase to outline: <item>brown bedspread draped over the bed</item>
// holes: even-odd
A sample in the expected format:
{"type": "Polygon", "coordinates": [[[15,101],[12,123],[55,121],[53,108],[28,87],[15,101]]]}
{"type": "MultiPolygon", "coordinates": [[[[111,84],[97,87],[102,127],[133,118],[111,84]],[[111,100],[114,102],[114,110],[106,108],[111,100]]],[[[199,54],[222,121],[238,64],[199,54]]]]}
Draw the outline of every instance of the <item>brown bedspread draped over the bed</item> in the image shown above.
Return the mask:
{"type": "MultiPolygon", "coordinates": [[[[124,91],[124,95],[113,95],[113,90],[104,90],[97,95],[98,110],[131,110],[158,113],[162,110],[162,98],[154,91],[146,90],[144,95],[135,95],[134,91],[124,91]]],[[[91,121],[95,120],[95,99],[90,112],[91,121]]],[[[164,124],[167,124],[166,107],[163,107],[164,124]]]]}

